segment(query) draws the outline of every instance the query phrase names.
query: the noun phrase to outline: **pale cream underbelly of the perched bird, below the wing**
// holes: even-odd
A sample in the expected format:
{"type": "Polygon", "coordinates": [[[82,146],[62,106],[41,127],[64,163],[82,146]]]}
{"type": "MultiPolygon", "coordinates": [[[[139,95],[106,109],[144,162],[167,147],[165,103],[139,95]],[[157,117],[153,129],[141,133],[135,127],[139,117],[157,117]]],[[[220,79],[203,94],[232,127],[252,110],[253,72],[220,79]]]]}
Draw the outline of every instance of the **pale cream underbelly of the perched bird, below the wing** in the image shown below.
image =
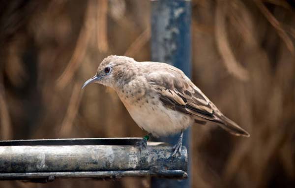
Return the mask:
{"type": "Polygon", "coordinates": [[[162,103],[151,105],[126,105],[132,119],[153,136],[176,134],[193,124],[193,119],[184,113],[167,109],[162,103]]]}

